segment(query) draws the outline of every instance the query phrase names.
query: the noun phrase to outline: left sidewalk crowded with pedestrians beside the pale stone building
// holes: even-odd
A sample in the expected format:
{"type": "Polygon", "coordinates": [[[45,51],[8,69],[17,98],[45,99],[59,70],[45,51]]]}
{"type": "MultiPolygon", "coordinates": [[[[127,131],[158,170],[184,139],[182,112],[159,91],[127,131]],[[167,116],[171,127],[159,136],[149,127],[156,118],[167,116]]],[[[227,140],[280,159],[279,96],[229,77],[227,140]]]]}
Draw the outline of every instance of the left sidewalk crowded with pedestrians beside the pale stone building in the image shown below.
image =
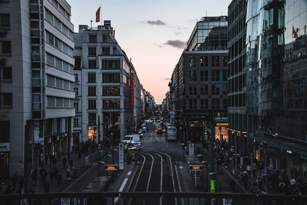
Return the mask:
{"type": "MultiPolygon", "coordinates": [[[[76,180],[78,180],[81,176],[82,173],[86,170],[88,170],[89,168],[94,167],[95,164],[89,164],[92,166],[88,166],[86,167],[85,165],[85,155],[82,154],[81,159],[78,159],[78,154],[75,153],[70,153],[70,158],[73,161],[73,168],[76,169],[76,175],[73,175],[73,168],[71,168],[71,175],[70,175],[70,180],[67,178],[67,164],[65,164],[65,166],[63,167],[63,162],[62,159],[63,157],[67,157],[67,154],[64,154],[63,156],[61,156],[60,160],[56,161],[56,166],[52,167],[50,164],[45,165],[45,163],[43,164],[43,167],[46,171],[47,171],[47,177],[46,177],[46,182],[49,183],[49,192],[53,193],[53,192],[61,192],[64,191],[67,187],[69,187],[72,183],[74,183],[76,180]],[[52,170],[54,171],[55,168],[59,171],[59,175],[62,176],[62,183],[60,184],[60,186],[58,187],[56,184],[56,179],[54,178],[53,181],[50,182],[50,176],[49,176],[49,171],[52,168],[52,170]]],[[[93,159],[93,157],[92,157],[93,159]]],[[[93,163],[93,162],[92,162],[93,163]]],[[[32,190],[34,191],[34,193],[44,193],[45,189],[44,189],[44,185],[41,181],[41,176],[39,173],[39,170],[41,169],[41,167],[38,168],[37,170],[37,175],[38,175],[38,184],[36,185],[35,181],[36,180],[32,180],[32,175],[29,174],[29,178],[28,178],[28,190],[30,189],[30,187],[32,187],[32,190]]],[[[16,187],[18,188],[18,181],[21,177],[17,176],[17,183],[16,183],[16,187]]],[[[6,185],[6,187],[8,187],[11,183],[12,177],[8,178],[8,177],[0,177],[0,183],[4,183],[6,185]]]]}

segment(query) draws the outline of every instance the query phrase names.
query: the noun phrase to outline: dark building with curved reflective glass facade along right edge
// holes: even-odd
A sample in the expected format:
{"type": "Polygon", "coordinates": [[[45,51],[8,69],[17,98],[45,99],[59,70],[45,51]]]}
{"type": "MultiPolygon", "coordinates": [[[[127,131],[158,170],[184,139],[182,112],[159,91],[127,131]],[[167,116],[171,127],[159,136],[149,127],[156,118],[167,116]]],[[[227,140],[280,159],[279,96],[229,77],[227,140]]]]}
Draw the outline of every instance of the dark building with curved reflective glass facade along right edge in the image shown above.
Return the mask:
{"type": "Polygon", "coordinates": [[[303,179],[307,169],[306,1],[234,0],[228,14],[230,35],[236,32],[231,28],[238,28],[240,16],[246,15],[245,65],[242,70],[236,64],[232,68],[236,56],[229,60],[234,82],[229,128],[238,131],[234,132],[239,138],[237,151],[266,162],[264,167],[277,173],[303,179]],[[243,81],[236,80],[240,76],[243,81]]]}

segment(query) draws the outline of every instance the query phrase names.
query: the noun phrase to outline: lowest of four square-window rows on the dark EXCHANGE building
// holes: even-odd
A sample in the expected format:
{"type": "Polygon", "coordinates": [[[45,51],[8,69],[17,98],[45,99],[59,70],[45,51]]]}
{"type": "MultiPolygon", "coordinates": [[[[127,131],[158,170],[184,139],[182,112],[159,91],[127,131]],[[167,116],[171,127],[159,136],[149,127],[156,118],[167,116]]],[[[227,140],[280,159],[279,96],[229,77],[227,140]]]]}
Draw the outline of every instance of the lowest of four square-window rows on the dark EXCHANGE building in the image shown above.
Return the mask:
{"type": "Polygon", "coordinates": [[[228,99],[223,98],[223,104],[220,104],[220,98],[201,98],[201,99],[188,99],[188,105],[186,105],[186,101],[183,101],[183,109],[190,110],[208,110],[208,109],[227,109],[228,107],[228,99]],[[209,105],[209,100],[211,101],[211,106],[209,105]],[[211,108],[210,108],[211,107],[211,108]]]}

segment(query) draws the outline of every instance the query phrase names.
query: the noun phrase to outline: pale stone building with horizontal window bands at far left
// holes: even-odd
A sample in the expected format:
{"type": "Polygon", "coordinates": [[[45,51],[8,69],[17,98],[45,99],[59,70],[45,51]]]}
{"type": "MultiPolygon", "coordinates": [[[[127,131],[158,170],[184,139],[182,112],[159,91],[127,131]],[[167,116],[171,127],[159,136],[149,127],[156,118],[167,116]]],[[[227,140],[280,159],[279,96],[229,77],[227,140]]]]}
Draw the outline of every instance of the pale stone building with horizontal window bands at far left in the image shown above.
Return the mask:
{"type": "Polygon", "coordinates": [[[64,0],[0,1],[0,175],[24,175],[70,147],[70,14],[64,0]]]}

